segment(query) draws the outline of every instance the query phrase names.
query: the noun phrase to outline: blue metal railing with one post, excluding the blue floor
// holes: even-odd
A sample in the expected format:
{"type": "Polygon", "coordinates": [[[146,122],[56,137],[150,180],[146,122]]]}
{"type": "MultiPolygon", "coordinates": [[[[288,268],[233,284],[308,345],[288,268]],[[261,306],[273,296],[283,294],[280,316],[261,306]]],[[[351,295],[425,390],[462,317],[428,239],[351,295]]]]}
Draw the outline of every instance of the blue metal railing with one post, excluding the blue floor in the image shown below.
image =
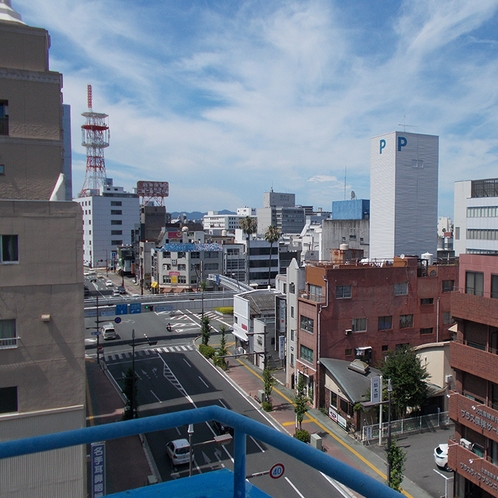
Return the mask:
{"type": "Polygon", "coordinates": [[[0,459],[66,448],[97,441],[171,429],[181,425],[218,420],[234,428],[234,497],[246,496],[246,435],[304,462],[367,498],[399,497],[399,493],[359,470],[326,455],[291,436],[219,406],[196,408],[143,419],[58,432],[0,443],[0,459]]]}

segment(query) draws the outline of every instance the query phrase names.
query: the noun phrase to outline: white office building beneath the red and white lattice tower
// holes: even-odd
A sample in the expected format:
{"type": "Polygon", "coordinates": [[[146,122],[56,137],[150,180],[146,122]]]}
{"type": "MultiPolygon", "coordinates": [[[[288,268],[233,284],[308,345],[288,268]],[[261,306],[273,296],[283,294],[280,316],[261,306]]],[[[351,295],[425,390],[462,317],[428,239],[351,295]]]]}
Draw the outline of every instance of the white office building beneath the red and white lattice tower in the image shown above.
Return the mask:
{"type": "Polygon", "coordinates": [[[83,211],[83,262],[87,266],[111,265],[117,247],[131,245],[132,231],[140,223],[138,195],[107,181],[101,194],[90,190],[90,195],[75,199],[83,211]]]}

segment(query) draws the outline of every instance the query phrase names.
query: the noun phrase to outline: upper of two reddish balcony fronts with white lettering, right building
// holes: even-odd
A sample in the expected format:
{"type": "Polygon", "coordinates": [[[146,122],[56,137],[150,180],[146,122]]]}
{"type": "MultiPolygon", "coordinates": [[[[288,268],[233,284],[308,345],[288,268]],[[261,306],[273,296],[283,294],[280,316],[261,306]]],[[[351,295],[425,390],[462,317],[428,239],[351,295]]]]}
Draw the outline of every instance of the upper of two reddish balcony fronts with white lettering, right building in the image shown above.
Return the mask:
{"type": "MultiPolygon", "coordinates": [[[[472,399],[450,392],[450,418],[486,438],[498,442],[498,411],[472,399]]],[[[455,467],[452,467],[455,468],[455,467]]]]}

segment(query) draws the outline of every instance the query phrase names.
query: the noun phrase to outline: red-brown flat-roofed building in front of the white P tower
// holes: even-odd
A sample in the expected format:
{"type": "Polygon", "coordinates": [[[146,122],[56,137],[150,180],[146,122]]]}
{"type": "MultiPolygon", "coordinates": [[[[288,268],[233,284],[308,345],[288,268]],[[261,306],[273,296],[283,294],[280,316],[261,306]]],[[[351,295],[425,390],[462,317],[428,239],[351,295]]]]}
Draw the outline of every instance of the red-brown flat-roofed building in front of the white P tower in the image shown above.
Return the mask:
{"type": "Polygon", "coordinates": [[[375,367],[388,350],[451,338],[455,264],[417,257],[372,263],[312,263],[298,300],[296,370],[305,376],[314,407],[328,406],[323,359],[375,367]]]}

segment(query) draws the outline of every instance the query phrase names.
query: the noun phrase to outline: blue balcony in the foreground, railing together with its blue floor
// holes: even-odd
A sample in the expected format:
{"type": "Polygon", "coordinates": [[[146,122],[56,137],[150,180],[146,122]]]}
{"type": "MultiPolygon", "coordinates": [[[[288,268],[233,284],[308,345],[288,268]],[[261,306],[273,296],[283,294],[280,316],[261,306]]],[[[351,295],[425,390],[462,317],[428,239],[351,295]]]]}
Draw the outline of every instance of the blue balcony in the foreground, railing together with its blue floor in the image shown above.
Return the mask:
{"type": "Polygon", "coordinates": [[[224,425],[234,428],[233,472],[223,469],[108,496],[113,496],[114,498],[134,496],[140,496],[141,498],[152,496],[263,498],[267,495],[246,481],[247,435],[279,449],[367,498],[395,498],[400,496],[398,492],[388,488],[385,484],[320,450],[271,427],[218,406],[208,406],[45,436],[6,441],[0,443],[0,459],[119,439],[210,420],[218,420],[224,425]],[[202,490],[202,495],[199,494],[199,490],[202,490]]]}

